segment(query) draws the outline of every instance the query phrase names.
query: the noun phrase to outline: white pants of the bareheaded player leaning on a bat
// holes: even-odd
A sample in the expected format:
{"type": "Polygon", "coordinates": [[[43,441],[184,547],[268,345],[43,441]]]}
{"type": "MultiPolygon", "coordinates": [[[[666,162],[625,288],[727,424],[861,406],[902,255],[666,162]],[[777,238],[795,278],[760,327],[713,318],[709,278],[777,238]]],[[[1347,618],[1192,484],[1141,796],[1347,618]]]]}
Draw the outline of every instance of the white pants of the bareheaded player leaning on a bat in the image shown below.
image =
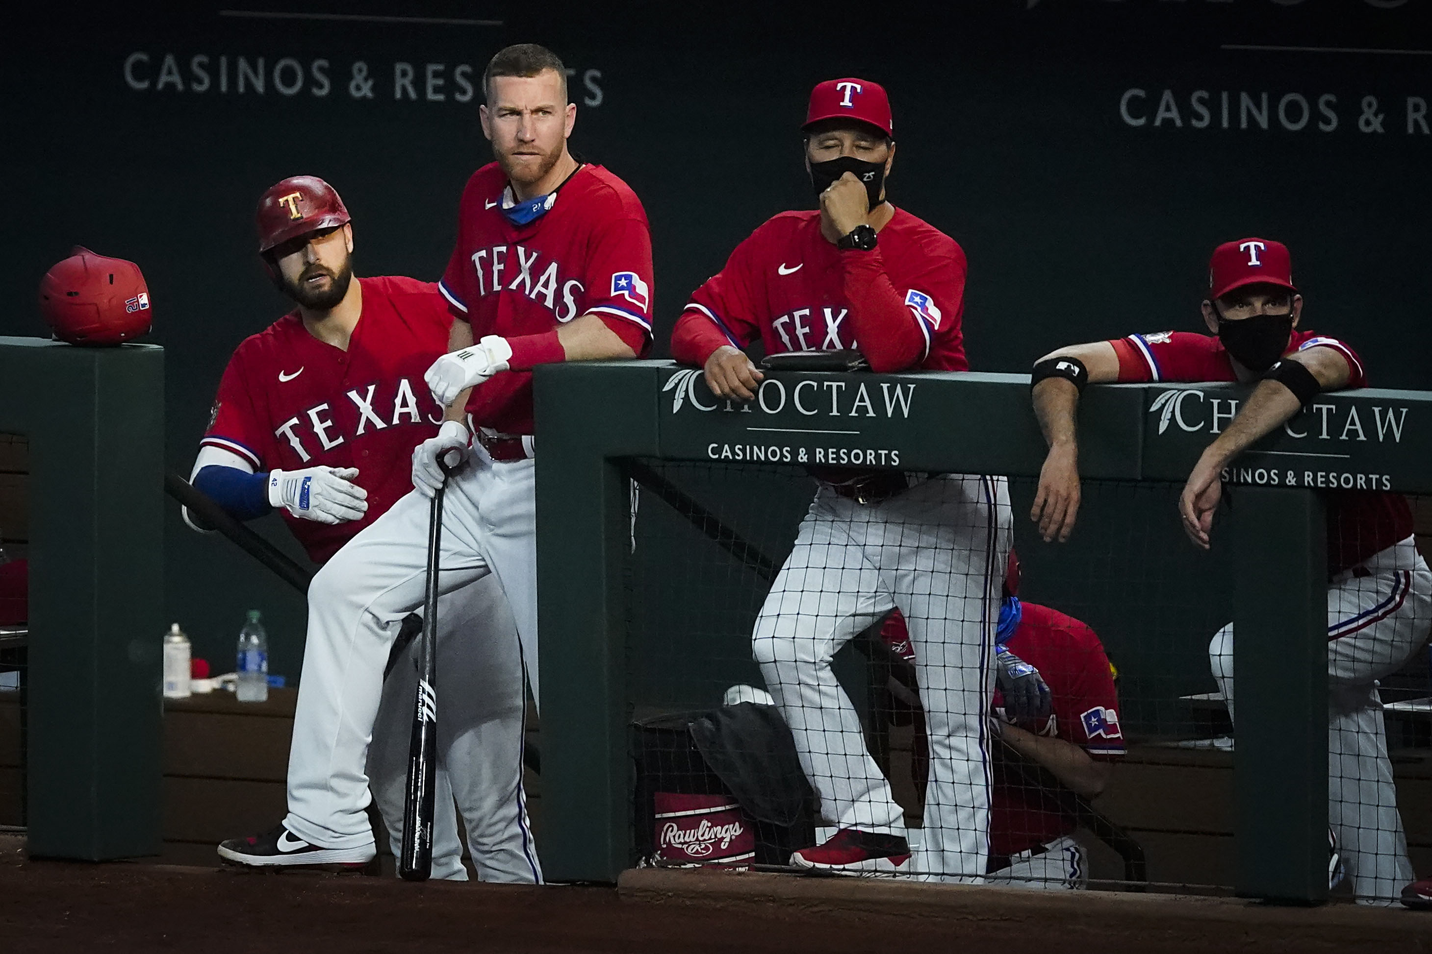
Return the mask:
{"type": "MultiPolygon", "coordinates": [[[[312,844],[347,848],[371,842],[364,769],[390,646],[402,618],[422,604],[427,541],[428,501],[414,491],[349,541],[309,586],[285,824],[312,844]]],[[[517,638],[511,626],[484,621],[454,642],[450,655],[455,665],[497,669],[488,698],[444,692],[440,648],[440,758],[448,768],[478,875],[540,882],[523,791],[524,669],[537,695],[533,462],[493,462],[481,446],[474,448],[448,481],[441,551],[441,594],[493,574],[507,596],[517,638]]]]}

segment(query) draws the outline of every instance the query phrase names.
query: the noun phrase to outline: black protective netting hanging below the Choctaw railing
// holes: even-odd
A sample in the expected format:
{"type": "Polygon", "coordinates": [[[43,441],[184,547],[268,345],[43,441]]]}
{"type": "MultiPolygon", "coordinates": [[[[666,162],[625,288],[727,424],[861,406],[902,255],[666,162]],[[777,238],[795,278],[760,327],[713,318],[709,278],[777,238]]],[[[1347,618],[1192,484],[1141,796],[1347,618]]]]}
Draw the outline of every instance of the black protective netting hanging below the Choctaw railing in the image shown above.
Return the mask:
{"type": "MultiPolygon", "coordinates": [[[[1032,481],[921,476],[861,502],[796,468],[642,459],[630,475],[642,862],[799,851],[951,881],[1230,890],[1233,579],[1217,539],[1201,552],[1183,536],[1177,485],[1085,482],[1073,538],[1044,544],[1032,481]],[[1020,714],[1040,699],[997,642],[1042,674],[1048,714],[1020,714]],[[842,830],[861,834],[828,841],[842,830]]],[[[1395,808],[1429,755],[1415,554],[1369,558],[1329,591],[1335,895],[1395,897],[1406,841],[1413,860],[1429,841],[1419,818],[1399,841],[1395,808]]]]}

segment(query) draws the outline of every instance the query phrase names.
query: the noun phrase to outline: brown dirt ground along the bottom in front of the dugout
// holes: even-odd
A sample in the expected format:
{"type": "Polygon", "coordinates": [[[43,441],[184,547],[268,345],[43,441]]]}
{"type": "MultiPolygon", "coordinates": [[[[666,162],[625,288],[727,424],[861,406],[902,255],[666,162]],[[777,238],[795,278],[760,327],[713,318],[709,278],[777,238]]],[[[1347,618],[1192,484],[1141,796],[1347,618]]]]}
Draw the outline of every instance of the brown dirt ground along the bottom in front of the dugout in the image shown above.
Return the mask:
{"type": "Polygon", "coordinates": [[[289,871],[26,861],[0,842],[0,950],[1432,951],[1432,914],[1040,900],[998,888],[630,872],[611,887],[404,884],[289,871]],[[919,885],[914,885],[919,887],[919,885]],[[991,894],[994,892],[994,894],[991,894]],[[951,901],[952,900],[952,901],[951,901]],[[1121,907],[1123,905],[1123,907],[1121,907]],[[1176,917],[1167,914],[1169,910],[1176,917]]]}

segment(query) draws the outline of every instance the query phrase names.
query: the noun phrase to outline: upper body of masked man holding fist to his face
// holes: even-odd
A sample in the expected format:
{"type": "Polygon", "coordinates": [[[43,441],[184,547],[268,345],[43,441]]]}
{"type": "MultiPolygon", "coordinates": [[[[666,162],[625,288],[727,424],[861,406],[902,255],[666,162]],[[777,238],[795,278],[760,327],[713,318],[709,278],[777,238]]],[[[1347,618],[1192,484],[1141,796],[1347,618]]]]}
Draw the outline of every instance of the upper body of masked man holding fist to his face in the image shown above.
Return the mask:
{"type": "Polygon", "coordinates": [[[756,229],[672,333],[672,356],[705,368],[717,396],[756,396],[762,375],[742,350],[756,338],[768,355],[856,349],[878,372],[968,370],[965,253],[886,200],[892,129],[878,83],[826,80],[811,93],[802,132],[819,210],[756,229]]]}

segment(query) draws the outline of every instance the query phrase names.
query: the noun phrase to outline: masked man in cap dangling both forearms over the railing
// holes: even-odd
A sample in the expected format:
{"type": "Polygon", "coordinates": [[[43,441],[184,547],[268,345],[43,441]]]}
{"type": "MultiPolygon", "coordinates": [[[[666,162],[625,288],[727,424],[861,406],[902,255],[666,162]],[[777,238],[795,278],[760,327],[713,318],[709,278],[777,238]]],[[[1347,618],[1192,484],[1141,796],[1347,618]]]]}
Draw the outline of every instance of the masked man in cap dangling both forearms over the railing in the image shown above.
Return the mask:
{"type": "MultiPolygon", "coordinates": [[[[1220,245],[1209,266],[1203,319],[1211,335],[1160,332],[1061,348],[1031,375],[1050,443],[1032,518],[1045,541],[1067,539],[1078,511],[1075,409],[1090,382],[1259,380],[1209,445],[1183,489],[1184,532],[1209,546],[1221,473],[1249,445],[1290,422],[1323,390],[1366,386],[1346,343],[1297,328],[1303,297],[1287,249],[1269,239],[1220,245]]],[[[1293,426],[1293,425],[1289,425],[1293,426]]],[[[1329,821],[1358,898],[1390,904],[1412,880],[1396,810],[1378,679],[1402,668],[1432,624],[1432,574],[1412,538],[1405,498],[1329,491],[1327,677],[1329,821]]],[[[1233,715],[1233,626],[1209,646],[1233,715]]]]}

